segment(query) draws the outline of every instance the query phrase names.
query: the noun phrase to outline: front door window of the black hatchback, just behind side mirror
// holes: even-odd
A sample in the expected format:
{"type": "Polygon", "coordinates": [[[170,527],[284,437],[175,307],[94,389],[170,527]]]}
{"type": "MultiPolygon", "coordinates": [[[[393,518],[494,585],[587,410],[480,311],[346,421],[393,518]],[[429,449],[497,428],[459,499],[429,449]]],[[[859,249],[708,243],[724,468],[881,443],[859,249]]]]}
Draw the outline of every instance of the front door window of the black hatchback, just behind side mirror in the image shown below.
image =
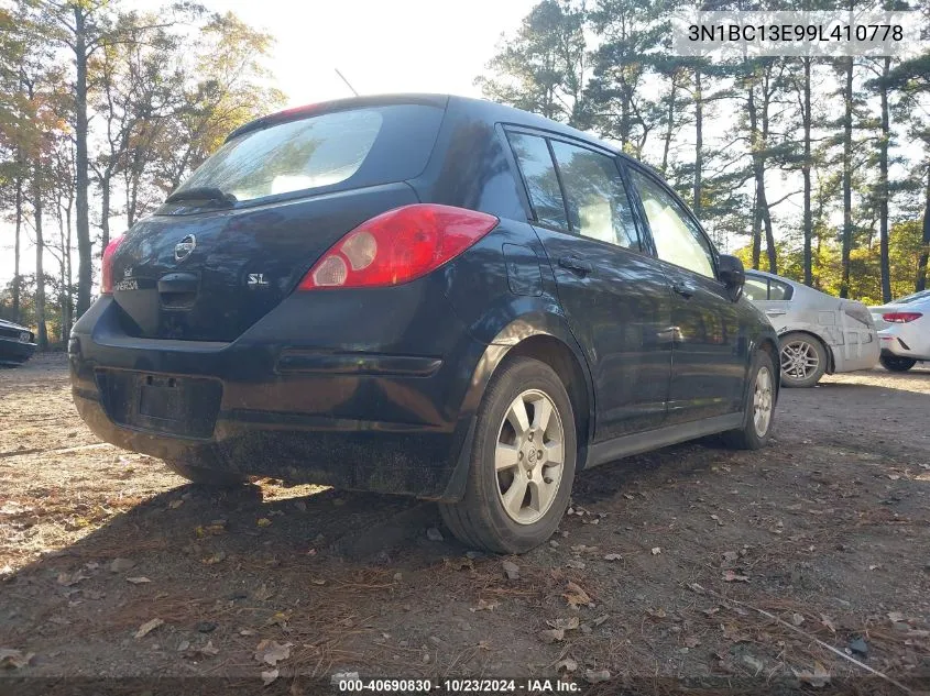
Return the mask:
{"type": "Polygon", "coordinates": [[[632,176],[649,220],[658,257],[713,278],[713,252],[700,228],[671,194],[652,177],[635,169],[632,176]]]}

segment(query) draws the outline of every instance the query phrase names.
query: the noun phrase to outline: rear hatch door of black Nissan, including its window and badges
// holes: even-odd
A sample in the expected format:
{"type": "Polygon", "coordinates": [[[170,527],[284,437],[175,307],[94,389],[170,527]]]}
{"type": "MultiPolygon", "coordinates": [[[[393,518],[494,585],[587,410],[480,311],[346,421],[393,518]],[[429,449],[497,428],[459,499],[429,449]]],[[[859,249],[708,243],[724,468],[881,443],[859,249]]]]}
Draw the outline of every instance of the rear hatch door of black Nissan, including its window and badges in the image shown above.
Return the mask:
{"type": "Polygon", "coordinates": [[[241,335],[342,235],[417,202],[404,181],[433,151],[437,99],[337,102],[233,134],[118,247],[113,298],[127,332],[241,335]]]}

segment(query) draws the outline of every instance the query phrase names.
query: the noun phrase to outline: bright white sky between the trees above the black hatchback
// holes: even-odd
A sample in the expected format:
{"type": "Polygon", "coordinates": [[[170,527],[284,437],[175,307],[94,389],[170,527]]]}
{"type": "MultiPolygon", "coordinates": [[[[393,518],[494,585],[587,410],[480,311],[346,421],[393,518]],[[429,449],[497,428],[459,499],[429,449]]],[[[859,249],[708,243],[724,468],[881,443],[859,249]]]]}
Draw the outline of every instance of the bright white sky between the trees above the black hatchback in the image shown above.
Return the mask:
{"type": "MultiPolygon", "coordinates": [[[[426,91],[480,96],[472,85],[534,0],[200,0],[233,11],[275,40],[267,67],[287,107],[351,97],[338,68],[361,95],[426,91]]],[[[125,0],[156,10],[167,2],[125,0]]],[[[0,227],[0,286],[13,277],[13,231],[0,227]]],[[[23,253],[22,273],[34,269],[23,253]]],[[[50,257],[46,267],[53,264],[50,257]]]]}

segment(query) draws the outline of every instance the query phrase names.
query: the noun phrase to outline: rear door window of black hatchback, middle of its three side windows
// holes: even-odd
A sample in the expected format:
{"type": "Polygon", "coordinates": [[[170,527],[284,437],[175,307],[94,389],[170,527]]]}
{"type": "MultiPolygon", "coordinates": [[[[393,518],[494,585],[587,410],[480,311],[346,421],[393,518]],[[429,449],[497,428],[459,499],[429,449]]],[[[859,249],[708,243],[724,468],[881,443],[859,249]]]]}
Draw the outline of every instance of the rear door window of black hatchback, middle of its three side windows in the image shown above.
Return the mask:
{"type": "Polygon", "coordinates": [[[606,155],[552,141],[573,232],[639,250],[633,211],[616,163],[606,155]]]}

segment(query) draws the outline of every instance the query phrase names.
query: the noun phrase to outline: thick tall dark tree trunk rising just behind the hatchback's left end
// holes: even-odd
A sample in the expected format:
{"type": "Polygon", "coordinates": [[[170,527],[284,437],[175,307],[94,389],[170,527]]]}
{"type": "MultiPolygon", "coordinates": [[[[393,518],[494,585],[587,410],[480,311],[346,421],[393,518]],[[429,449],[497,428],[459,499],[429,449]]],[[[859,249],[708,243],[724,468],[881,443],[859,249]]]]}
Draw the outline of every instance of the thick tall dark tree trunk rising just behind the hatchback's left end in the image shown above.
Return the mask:
{"type": "Polygon", "coordinates": [[[75,19],[75,64],[77,66],[77,81],[75,82],[75,205],[77,223],[77,314],[80,316],[90,307],[90,286],[94,283],[91,273],[90,221],[87,202],[87,35],[85,13],[79,5],[74,8],[75,19]]]}

